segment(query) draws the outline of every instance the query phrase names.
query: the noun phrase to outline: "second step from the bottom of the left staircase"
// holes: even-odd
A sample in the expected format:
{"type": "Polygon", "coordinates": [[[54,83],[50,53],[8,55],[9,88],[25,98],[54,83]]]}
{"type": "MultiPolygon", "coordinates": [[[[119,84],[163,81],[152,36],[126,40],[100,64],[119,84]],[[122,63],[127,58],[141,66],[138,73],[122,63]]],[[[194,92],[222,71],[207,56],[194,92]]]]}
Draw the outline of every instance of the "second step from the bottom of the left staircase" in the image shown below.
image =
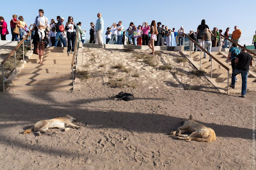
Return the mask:
{"type": "Polygon", "coordinates": [[[15,79],[14,85],[72,85],[72,80],[65,79],[45,79],[45,80],[31,80],[31,79],[15,79]]]}

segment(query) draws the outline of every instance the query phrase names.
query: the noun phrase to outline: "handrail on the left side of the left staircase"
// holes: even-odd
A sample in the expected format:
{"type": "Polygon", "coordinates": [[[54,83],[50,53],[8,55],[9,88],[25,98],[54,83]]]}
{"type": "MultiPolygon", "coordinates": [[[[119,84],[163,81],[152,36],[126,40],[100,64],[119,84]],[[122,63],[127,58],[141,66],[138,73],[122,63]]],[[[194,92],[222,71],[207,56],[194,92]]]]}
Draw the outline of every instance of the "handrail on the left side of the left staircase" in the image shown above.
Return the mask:
{"type": "Polygon", "coordinates": [[[10,59],[10,57],[12,57],[13,53],[14,53],[14,58],[15,58],[15,74],[17,74],[17,65],[16,65],[16,51],[18,50],[18,48],[20,47],[20,45],[22,45],[22,51],[23,51],[23,63],[25,61],[25,53],[24,53],[24,41],[28,38],[28,36],[30,37],[30,49],[32,52],[32,45],[31,45],[31,31],[19,42],[19,44],[14,48],[14,50],[12,50],[12,52],[9,53],[9,55],[6,57],[6,59],[4,59],[1,62],[2,65],[2,74],[3,74],[3,92],[4,92],[4,63],[10,59]]]}

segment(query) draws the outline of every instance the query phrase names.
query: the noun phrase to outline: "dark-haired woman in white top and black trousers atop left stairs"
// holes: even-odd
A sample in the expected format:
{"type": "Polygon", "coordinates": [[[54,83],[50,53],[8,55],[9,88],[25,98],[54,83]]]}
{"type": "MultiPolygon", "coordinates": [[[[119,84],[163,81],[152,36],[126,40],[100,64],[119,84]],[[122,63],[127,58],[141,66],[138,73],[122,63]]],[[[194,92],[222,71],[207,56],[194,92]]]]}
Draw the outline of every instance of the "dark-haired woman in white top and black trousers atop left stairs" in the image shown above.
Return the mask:
{"type": "Polygon", "coordinates": [[[74,43],[76,38],[76,24],[74,23],[73,17],[68,17],[68,22],[66,23],[65,30],[67,31],[67,38],[68,38],[68,50],[67,52],[74,53],[74,43]],[[71,47],[72,46],[72,47],[71,47]]]}

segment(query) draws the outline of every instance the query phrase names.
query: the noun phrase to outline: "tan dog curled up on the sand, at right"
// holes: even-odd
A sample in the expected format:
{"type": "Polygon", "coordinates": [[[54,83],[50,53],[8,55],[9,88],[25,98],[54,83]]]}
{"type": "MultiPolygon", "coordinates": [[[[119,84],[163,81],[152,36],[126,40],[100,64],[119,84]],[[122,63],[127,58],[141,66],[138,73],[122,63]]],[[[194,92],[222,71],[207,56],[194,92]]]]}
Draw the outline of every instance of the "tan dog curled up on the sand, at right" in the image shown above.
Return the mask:
{"type": "Polygon", "coordinates": [[[177,131],[171,132],[171,135],[176,136],[177,139],[186,141],[194,140],[211,142],[216,140],[216,134],[214,130],[195,122],[192,115],[190,115],[189,119],[184,122],[184,125],[178,127],[177,131]],[[182,134],[184,132],[189,132],[191,134],[189,136],[187,134],[182,134]]]}

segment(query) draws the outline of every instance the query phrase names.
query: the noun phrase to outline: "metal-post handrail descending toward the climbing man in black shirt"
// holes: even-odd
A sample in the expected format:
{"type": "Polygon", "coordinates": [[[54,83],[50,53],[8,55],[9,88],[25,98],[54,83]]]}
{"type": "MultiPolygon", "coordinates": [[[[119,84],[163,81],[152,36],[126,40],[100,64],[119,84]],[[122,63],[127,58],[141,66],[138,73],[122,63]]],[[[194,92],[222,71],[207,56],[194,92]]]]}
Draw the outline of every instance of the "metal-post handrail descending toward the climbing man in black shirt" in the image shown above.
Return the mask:
{"type": "MultiPolygon", "coordinates": [[[[216,59],[213,55],[211,55],[211,53],[207,52],[202,46],[198,45],[198,43],[196,43],[196,41],[192,38],[190,38],[187,34],[184,34],[184,36],[186,36],[190,41],[192,41],[193,43],[195,43],[196,46],[198,46],[201,49],[201,55],[200,55],[200,69],[201,69],[201,63],[202,63],[202,51],[204,51],[205,53],[207,53],[209,56],[212,57],[212,59],[214,59],[216,62],[218,62],[218,64],[220,64],[222,67],[224,67],[225,69],[227,69],[228,71],[228,82],[227,82],[227,94],[228,94],[228,85],[229,85],[229,68],[227,66],[225,66],[222,62],[220,62],[220,60],[216,59]]],[[[191,46],[189,46],[189,50],[190,50],[190,57],[191,57],[191,46]]],[[[212,78],[212,60],[211,60],[211,78],[212,78]]]]}

